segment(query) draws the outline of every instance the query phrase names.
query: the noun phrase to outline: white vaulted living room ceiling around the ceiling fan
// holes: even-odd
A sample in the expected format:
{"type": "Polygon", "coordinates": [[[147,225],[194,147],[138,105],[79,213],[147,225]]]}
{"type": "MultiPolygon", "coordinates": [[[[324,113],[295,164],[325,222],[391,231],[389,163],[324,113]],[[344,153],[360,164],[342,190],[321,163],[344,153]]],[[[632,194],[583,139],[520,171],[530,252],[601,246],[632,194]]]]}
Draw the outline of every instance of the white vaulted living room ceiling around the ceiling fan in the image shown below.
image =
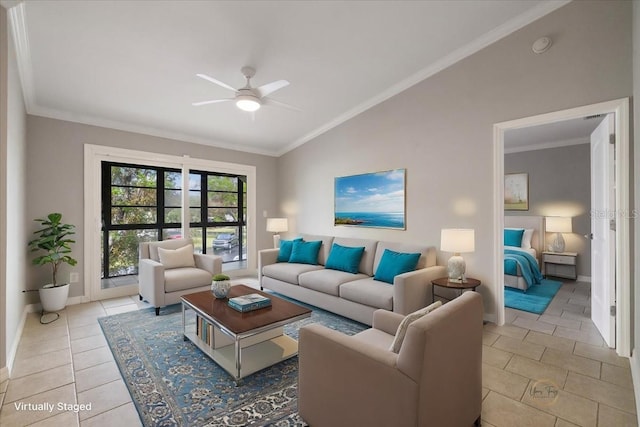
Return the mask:
{"type": "Polygon", "coordinates": [[[30,114],[280,155],[563,4],[27,0],[9,18],[30,114]],[[233,95],[197,73],[240,87],[244,65],[302,112],[191,105],[233,95]]]}

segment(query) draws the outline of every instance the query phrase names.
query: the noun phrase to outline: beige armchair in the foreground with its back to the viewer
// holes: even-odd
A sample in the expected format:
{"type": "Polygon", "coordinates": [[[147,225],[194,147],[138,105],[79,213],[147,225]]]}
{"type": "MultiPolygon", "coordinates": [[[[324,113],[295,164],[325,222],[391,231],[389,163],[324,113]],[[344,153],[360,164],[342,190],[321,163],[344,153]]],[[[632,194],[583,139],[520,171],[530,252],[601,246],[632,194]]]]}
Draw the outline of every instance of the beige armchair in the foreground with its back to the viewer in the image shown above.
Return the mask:
{"type": "Polygon", "coordinates": [[[374,313],[373,328],[347,336],[319,324],[300,329],[300,416],[313,427],[480,424],[482,297],[466,292],[409,325],[374,313]]]}

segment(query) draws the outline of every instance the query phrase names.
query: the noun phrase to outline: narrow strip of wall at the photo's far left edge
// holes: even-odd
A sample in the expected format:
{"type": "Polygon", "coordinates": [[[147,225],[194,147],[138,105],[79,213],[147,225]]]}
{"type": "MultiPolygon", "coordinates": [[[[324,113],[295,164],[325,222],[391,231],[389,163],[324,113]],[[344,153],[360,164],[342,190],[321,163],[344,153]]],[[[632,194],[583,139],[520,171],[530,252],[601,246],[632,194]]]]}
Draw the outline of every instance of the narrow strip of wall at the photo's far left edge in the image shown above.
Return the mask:
{"type": "MultiPolygon", "coordinates": [[[[0,7],[0,369],[11,364],[12,351],[26,307],[27,268],[26,113],[13,40],[7,32],[6,11],[0,7]]],[[[0,371],[2,377],[4,371],[0,371]]]]}

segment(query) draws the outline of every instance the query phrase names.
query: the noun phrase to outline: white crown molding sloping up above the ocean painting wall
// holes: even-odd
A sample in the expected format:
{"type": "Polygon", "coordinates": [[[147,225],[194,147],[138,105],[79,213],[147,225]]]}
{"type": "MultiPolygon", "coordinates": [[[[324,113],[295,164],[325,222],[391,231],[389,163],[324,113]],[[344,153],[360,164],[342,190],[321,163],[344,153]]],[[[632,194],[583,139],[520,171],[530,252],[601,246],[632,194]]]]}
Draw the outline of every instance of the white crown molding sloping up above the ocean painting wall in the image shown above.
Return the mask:
{"type": "Polygon", "coordinates": [[[330,122],[328,122],[327,124],[325,124],[324,126],[321,126],[311,132],[309,132],[308,134],[302,136],[301,138],[295,140],[293,143],[291,143],[290,145],[288,145],[287,147],[285,147],[279,154],[285,154],[301,145],[303,145],[306,142],[309,142],[310,140],[312,140],[313,138],[316,138],[320,135],[322,135],[323,133],[327,132],[330,129],[333,129],[334,127],[346,122],[349,119],[352,119],[353,117],[357,116],[360,113],[363,113],[364,111],[380,104],[383,101],[386,101],[387,99],[391,98],[392,96],[395,96],[397,94],[399,94],[400,92],[407,90],[408,88],[410,88],[411,86],[416,85],[417,83],[433,76],[434,74],[444,70],[445,68],[448,68],[450,66],[452,66],[453,64],[455,64],[456,62],[471,56],[472,54],[478,52],[481,49],[484,49],[485,47],[489,46],[492,43],[497,42],[498,40],[508,36],[509,34],[513,33],[514,31],[519,30],[520,28],[532,23],[533,21],[553,12],[556,9],[559,9],[560,7],[570,3],[571,0],[552,0],[552,1],[548,1],[545,3],[541,3],[539,5],[537,5],[536,7],[528,10],[527,12],[505,22],[504,24],[500,25],[499,27],[494,28],[493,30],[485,33],[484,35],[478,37],[477,39],[475,39],[473,42],[457,49],[454,50],[453,52],[451,52],[450,54],[446,55],[445,57],[443,57],[442,59],[440,59],[439,61],[435,62],[434,64],[430,65],[427,68],[422,69],[421,71],[413,74],[412,76],[408,77],[407,79],[396,83],[395,85],[391,86],[390,88],[388,88],[387,90],[385,90],[384,92],[380,93],[379,95],[370,98],[369,100],[363,102],[362,104],[356,106],[355,108],[352,108],[350,110],[348,110],[347,112],[345,112],[344,114],[341,114],[340,116],[334,118],[333,120],[331,120],[330,122]]]}

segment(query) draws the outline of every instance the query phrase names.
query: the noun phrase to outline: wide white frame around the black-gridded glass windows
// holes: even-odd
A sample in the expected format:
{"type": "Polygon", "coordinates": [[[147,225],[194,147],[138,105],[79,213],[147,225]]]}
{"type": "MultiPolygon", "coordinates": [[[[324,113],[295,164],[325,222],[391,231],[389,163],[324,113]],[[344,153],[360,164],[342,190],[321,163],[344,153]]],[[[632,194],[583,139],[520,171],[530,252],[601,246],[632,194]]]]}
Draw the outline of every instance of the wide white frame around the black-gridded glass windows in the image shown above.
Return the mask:
{"type": "MultiPolygon", "coordinates": [[[[102,289],[100,286],[100,231],[102,221],[101,194],[102,161],[162,166],[183,170],[183,188],[188,187],[188,171],[222,172],[247,177],[247,268],[234,270],[233,276],[250,274],[256,269],[256,167],[238,163],[192,158],[187,155],[151,153],[103,145],[84,145],[84,296],[81,302],[117,298],[138,293],[137,285],[102,289]]],[[[183,191],[183,204],[188,203],[188,192],[183,191]]],[[[189,213],[182,210],[183,230],[188,231],[189,213]]]]}

